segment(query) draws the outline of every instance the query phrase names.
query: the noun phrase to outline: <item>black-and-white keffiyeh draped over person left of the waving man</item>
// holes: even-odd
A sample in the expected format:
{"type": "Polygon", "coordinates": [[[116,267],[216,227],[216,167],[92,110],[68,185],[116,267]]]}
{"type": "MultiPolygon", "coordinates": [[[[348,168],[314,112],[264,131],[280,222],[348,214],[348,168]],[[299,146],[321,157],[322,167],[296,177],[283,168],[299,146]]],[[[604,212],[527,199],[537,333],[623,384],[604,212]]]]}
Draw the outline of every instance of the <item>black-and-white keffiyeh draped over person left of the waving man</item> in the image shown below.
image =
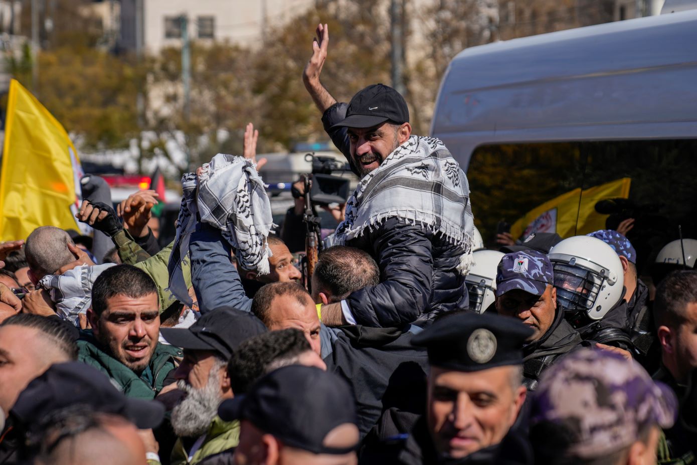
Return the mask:
{"type": "Polygon", "coordinates": [[[204,165],[197,181],[193,173],[182,177],[184,198],[179,211],[174,247],[169,259],[169,290],[184,303],[190,303],[181,276],[181,259],[189,249],[196,214],[201,222],[220,229],[245,270],[269,273],[270,249],[266,242],[274,226],[271,206],[263,181],[250,160],[218,153],[204,165]],[[198,197],[194,192],[198,184],[198,197]]]}

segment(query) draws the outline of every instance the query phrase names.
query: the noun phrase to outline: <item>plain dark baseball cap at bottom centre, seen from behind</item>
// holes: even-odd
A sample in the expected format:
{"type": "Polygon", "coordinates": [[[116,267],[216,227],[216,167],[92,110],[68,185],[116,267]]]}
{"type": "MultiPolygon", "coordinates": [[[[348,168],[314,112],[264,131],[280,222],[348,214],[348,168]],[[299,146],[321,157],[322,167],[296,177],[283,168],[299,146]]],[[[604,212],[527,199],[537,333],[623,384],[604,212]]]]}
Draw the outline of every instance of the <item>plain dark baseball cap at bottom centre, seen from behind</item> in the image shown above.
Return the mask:
{"type": "Polygon", "coordinates": [[[248,420],[292,448],[314,454],[348,454],[358,446],[330,448],[325,436],[339,425],[357,425],[351,388],[336,374],[290,365],[259,379],[245,395],[220,404],[225,421],[248,420]]]}

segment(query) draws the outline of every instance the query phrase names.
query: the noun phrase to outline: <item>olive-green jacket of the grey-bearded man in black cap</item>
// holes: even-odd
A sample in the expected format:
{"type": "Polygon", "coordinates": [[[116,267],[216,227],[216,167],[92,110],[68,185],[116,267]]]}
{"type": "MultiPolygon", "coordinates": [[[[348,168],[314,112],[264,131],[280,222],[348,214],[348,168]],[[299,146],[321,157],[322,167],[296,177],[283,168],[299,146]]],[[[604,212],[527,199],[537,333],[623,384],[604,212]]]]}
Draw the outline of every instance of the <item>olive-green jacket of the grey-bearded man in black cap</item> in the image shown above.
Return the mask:
{"type": "Polygon", "coordinates": [[[181,438],[176,440],[171,454],[171,465],[195,465],[201,462],[213,463],[232,463],[233,450],[240,443],[240,422],[233,420],[225,422],[216,416],[210,422],[206,439],[201,444],[199,450],[194,453],[191,461],[184,449],[181,438]],[[213,459],[215,455],[215,459],[213,459]],[[229,455],[229,457],[225,457],[229,455]],[[207,460],[208,459],[208,460],[207,460]],[[227,461],[229,459],[229,462],[227,461]]]}

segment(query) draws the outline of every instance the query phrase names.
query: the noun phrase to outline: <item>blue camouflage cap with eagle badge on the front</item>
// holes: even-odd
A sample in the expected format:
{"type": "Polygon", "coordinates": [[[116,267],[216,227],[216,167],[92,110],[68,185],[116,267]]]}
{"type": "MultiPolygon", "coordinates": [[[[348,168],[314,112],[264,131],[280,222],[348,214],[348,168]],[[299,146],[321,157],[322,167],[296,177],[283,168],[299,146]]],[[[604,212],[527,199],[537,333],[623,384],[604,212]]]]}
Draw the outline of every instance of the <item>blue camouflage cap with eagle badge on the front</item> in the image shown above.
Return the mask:
{"type": "Polygon", "coordinates": [[[542,296],[547,284],[554,285],[554,268],[551,261],[537,250],[523,250],[505,254],[496,273],[496,297],[513,289],[522,289],[535,296],[542,296]]]}

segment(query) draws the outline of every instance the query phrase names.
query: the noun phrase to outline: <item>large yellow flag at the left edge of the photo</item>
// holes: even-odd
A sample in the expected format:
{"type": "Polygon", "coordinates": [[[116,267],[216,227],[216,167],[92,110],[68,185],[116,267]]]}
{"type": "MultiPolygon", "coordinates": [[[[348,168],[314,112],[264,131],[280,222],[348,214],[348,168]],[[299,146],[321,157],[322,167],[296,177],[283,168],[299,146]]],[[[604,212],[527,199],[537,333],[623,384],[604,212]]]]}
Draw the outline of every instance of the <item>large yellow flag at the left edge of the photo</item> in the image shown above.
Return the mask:
{"type": "Polygon", "coordinates": [[[26,239],[40,226],[78,229],[82,167],[68,132],[15,79],[0,174],[0,241],[26,239]]]}

